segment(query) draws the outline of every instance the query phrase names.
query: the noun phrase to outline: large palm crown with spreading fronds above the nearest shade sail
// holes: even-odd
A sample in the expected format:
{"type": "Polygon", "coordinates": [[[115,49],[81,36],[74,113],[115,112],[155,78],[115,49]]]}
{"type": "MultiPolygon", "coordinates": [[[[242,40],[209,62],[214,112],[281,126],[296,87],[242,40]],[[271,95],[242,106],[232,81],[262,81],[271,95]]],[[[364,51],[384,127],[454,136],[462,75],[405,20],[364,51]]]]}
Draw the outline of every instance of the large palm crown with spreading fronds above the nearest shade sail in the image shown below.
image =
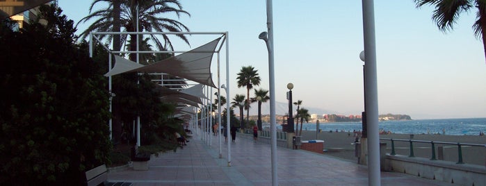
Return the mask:
{"type": "MultiPolygon", "coordinates": [[[[191,16],[185,10],[182,10],[181,3],[178,0],[157,0],[157,1],[138,1],[138,0],[95,0],[91,3],[90,6],[90,15],[83,17],[80,20],[81,22],[88,22],[90,19],[95,19],[95,22],[91,24],[86,31],[81,33],[81,40],[85,40],[86,37],[92,31],[126,31],[126,32],[134,32],[136,31],[136,19],[138,18],[139,26],[138,30],[141,31],[158,31],[158,32],[182,32],[182,31],[189,31],[184,24],[178,22],[174,19],[165,18],[163,15],[168,15],[170,13],[175,13],[177,17],[181,15],[188,15],[191,16]],[[106,9],[96,10],[92,12],[92,8],[97,3],[108,3],[109,6],[106,9]],[[120,7],[118,7],[118,3],[120,3],[120,7]],[[138,15],[137,15],[137,7],[138,7],[138,15]],[[119,16],[114,16],[115,14],[119,13],[119,16]],[[119,20],[118,20],[119,19],[119,20]],[[120,25],[118,25],[118,22],[120,25]]],[[[79,24],[78,23],[78,24],[79,24]]],[[[100,35],[101,39],[106,39],[111,41],[113,35],[100,35]]],[[[174,47],[172,46],[172,42],[170,41],[167,35],[162,35],[163,42],[159,40],[158,37],[155,35],[150,35],[149,38],[152,42],[155,43],[157,49],[159,50],[173,50],[174,47]]],[[[184,40],[187,44],[189,44],[185,35],[177,35],[181,40],[184,40]]],[[[136,41],[138,38],[142,38],[142,36],[137,37],[135,34],[130,35],[132,42],[131,49],[136,49],[136,41]]],[[[127,41],[127,35],[122,35],[120,39],[115,38],[113,41],[114,49],[115,42],[118,43],[118,40],[121,42],[127,41]]],[[[108,42],[109,43],[109,42],[108,42]]],[[[122,44],[120,44],[121,46],[122,44]]],[[[132,55],[134,56],[134,55],[132,55]]],[[[133,57],[131,57],[133,60],[133,57]]]]}

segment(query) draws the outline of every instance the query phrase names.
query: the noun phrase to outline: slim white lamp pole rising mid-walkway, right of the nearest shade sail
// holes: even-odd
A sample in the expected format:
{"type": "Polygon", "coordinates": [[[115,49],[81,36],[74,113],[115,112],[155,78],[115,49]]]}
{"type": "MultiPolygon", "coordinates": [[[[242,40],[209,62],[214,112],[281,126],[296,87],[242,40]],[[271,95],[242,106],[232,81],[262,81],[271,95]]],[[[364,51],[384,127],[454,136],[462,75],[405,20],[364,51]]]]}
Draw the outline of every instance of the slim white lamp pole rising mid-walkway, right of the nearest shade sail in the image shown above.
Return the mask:
{"type": "Polygon", "coordinates": [[[275,121],[275,67],[273,61],[273,3],[266,1],[266,17],[268,28],[268,71],[270,74],[270,144],[272,160],[272,185],[278,185],[277,178],[277,126],[275,121]]]}

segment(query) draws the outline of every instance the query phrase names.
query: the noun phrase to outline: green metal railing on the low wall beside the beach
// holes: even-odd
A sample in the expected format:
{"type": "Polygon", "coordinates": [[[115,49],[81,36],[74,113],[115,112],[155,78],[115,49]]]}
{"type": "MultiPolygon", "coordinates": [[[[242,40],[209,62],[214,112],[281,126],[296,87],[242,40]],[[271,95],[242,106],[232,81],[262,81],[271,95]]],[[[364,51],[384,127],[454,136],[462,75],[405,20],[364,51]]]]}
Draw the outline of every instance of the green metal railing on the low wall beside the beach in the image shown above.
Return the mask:
{"type": "Polygon", "coordinates": [[[391,153],[390,155],[396,155],[395,152],[395,142],[409,142],[410,143],[410,154],[409,157],[415,157],[414,155],[414,142],[416,143],[428,143],[431,145],[432,154],[430,155],[430,160],[437,160],[435,157],[435,144],[448,144],[457,145],[457,164],[464,164],[462,161],[462,146],[482,146],[486,147],[486,144],[469,144],[469,143],[454,143],[454,142],[434,142],[434,141],[423,141],[423,140],[403,140],[403,139],[391,139],[391,138],[380,138],[380,140],[391,141],[391,153]]]}

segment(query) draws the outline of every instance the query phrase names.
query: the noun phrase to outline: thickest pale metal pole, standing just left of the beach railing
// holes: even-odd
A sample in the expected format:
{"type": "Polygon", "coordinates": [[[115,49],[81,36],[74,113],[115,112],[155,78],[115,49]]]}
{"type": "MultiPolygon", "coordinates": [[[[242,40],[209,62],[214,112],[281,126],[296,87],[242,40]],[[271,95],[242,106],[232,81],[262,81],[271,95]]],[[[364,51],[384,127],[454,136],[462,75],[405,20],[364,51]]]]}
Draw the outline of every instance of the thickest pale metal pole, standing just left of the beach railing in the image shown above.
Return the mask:
{"type": "Polygon", "coordinates": [[[375,10],[373,0],[362,0],[365,58],[366,124],[368,133],[368,185],[380,183],[380,135],[378,133],[378,81],[376,68],[375,10]]]}

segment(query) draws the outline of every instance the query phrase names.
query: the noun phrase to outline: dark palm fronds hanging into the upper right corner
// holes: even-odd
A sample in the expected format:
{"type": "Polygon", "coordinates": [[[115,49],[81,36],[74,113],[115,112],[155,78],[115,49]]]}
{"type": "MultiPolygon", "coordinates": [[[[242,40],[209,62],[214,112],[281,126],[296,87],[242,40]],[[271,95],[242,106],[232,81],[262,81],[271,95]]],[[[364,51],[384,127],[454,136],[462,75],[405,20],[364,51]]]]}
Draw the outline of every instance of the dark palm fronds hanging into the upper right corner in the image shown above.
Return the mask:
{"type": "Polygon", "coordinates": [[[419,8],[426,4],[435,6],[432,19],[441,31],[453,30],[460,13],[477,8],[473,30],[476,37],[482,37],[486,56],[486,1],[483,0],[414,0],[419,8]]]}

